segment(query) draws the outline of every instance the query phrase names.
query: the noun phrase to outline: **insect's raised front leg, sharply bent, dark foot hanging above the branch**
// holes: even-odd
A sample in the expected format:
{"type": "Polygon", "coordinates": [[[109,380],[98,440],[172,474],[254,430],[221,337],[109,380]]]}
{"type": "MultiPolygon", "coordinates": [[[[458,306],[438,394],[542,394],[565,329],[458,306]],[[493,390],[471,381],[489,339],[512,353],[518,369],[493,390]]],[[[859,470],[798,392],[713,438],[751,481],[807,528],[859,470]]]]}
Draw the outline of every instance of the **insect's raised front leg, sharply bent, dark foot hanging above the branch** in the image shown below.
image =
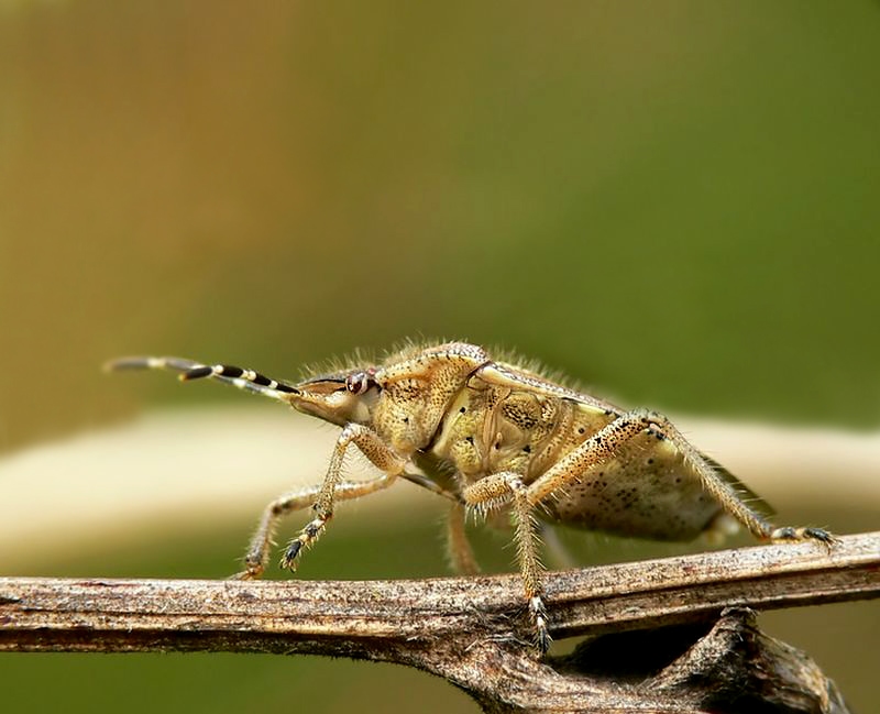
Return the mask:
{"type": "Polygon", "coordinates": [[[333,504],[337,497],[337,487],[340,483],[342,462],[349,446],[354,443],[361,452],[380,471],[385,474],[385,483],[382,487],[391,485],[394,479],[399,475],[406,460],[398,457],[372,429],[360,424],[349,424],[337,439],[333,448],[333,455],[330,458],[330,465],[327,469],[320,491],[312,505],[315,518],[309,521],[287,546],[282,557],[282,568],[296,570],[297,559],[302,553],[304,548],[311,546],[323,532],[327,521],[333,516],[333,504]]]}

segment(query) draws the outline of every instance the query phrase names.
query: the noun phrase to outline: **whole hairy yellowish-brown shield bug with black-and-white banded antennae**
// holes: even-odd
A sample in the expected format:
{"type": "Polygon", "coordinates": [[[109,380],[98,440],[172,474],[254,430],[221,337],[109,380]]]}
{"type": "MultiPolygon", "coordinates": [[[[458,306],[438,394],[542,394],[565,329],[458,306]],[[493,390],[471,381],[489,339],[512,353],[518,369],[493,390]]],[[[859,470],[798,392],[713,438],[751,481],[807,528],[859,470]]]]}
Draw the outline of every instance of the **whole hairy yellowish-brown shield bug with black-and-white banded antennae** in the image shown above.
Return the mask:
{"type": "Polygon", "coordinates": [[[820,528],[774,527],[754,494],[703,455],[662,415],[624,410],[494,360],[464,342],[410,345],[375,364],[359,364],[298,384],[226,364],[179,358],[124,358],[112,370],[157,369],[183,381],[212,378],[272,397],[342,431],[320,485],[287,493],[263,513],[240,578],[265,570],[278,520],[311,507],[311,519],[284,550],[295,570],[326,530],[339,501],[413,481],[451,499],[453,564],[474,572],[464,531],[468,509],[510,516],[536,645],[550,644],[538,521],[661,540],[691,540],[729,517],[761,540],[817,540],[820,528]],[[351,446],[381,475],[341,475],[351,446]],[[414,466],[416,468],[414,470],[414,466]]]}

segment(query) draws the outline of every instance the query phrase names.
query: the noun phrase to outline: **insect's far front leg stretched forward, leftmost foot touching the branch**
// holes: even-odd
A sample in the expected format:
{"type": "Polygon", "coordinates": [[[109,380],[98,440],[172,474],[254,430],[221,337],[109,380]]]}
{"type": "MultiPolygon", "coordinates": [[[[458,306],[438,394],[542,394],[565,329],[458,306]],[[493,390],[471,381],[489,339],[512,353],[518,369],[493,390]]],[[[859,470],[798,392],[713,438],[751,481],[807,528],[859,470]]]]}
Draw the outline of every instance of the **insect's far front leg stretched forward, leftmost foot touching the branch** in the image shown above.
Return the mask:
{"type": "MultiPolygon", "coordinates": [[[[349,501],[367,496],[371,493],[386,488],[392,482],[393,479],[387,474],[369,481],[340,481],[336,486],[336,499],[349,501]]],[[[233,575],[234,579],[252,580],[263,574],[268,564],[270,550],[273,545],[272,538],[278,521],[289,513],[312,506],[318,499],[322,487],[322,484],[318,484],[292,491],[266,506],[244,556],[245,570],[233,575]]]]}

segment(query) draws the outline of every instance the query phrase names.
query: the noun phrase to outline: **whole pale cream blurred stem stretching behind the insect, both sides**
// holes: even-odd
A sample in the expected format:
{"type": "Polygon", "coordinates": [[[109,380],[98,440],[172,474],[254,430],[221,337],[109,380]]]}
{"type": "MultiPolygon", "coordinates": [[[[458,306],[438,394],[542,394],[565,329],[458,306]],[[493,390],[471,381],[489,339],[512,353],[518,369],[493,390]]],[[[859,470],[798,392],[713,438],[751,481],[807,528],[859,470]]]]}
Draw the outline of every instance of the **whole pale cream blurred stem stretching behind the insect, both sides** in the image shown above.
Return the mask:
{"type": "MultiPolygon", "coordinates": [[[[880,433],[676,421],[780,512],[880,505],[880,433]]],[[[218,521],[255,524],[276,495],[320,481],[336,433],[284,411],[175,409],[9,455],[0,460],[3,571],[218,521]]],[[[348,476],[367,474],[363,458],[349,460],[348,476]]],[[[411,518],[431,498],[402,482],[355,508],[411,518]]]]}

